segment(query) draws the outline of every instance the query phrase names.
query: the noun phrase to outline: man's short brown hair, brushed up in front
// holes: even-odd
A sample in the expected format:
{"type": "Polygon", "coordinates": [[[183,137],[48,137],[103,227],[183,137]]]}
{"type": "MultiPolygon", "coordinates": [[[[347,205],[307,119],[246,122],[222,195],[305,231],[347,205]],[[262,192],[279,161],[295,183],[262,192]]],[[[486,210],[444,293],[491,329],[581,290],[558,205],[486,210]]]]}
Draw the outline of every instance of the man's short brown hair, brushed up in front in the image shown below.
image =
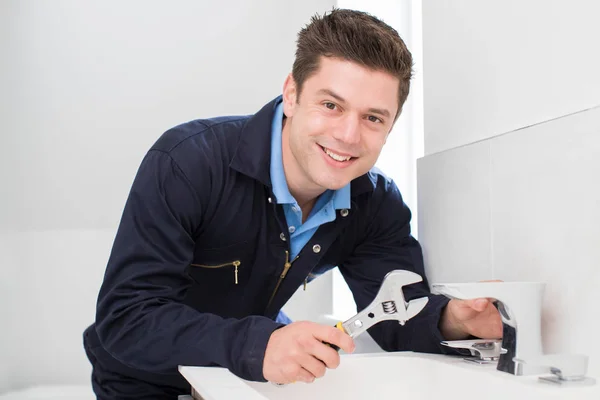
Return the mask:
{"type": "Polygon", "coordinates": [[[298,98],[322,56],[341,58],[398,78],[398,118],[408,97],[413,63],[394,28],[362,11],[334,8],[329,14],[313,16],[298,33],[297,43],[292,76],[298,98]]]}

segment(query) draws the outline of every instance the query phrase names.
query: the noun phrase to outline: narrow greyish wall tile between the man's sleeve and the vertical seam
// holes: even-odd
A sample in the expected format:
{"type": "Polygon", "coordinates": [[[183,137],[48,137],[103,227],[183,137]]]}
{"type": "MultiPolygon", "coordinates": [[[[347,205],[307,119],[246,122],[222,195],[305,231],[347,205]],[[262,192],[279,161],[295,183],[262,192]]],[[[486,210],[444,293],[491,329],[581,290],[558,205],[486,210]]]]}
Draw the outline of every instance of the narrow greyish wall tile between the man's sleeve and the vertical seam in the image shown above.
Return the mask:
{"type": "Polygon", "coordinates": [[[430,282],[492,277],[489,144],[418,160],[419,241],[430,282]]]}

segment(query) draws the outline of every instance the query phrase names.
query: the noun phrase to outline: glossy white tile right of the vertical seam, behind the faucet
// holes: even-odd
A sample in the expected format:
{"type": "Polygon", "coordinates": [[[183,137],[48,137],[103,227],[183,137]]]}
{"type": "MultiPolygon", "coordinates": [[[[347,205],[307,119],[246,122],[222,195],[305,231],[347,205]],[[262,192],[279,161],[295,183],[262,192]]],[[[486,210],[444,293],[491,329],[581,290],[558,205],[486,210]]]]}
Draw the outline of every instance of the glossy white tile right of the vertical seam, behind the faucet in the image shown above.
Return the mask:
{"type": "Polygon", "coordinates": [[[546,351],[600,365],[600,107],[491,149],[494,278],[546,282],[546,351]]]}

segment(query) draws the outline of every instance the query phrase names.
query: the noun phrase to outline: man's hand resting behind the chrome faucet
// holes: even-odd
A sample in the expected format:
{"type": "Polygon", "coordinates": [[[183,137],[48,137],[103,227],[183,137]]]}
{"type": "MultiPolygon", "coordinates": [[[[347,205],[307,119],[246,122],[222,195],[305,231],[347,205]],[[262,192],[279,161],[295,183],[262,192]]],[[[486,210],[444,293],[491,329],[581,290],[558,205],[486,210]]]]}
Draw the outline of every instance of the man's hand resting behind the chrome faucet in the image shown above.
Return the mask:
{"type": "Polygon", "coordinates": [[[446,340],[462,340],[470,335],[499,339],[502,320],[491,299],[452,299],[442,312],[440,331],[446,340]]]}

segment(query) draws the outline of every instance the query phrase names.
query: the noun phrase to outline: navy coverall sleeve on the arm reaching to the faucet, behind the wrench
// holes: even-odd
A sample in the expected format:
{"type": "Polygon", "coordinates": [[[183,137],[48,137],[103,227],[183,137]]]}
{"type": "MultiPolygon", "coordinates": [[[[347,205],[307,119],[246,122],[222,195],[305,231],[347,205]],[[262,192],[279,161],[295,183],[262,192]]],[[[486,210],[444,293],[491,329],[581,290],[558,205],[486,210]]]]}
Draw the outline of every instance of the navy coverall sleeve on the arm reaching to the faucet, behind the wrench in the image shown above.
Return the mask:
{"type": "MultiPolygon", "coordinates": [[[[381,182],[379,183],[381,184],[381,182]]],[[[458,354],[440,344],[444,340],[438,324],[448,299],[433,295],[425,276],[421,246],[410,233],[411,212],[392,181],[386,190],[376,190],[364,218],[364,235],[354,251],[340,266],[340,272],[354,296],[357,310],[366,308],[375,298],[385,275],[403,269],[423,277],[423,281],[404,287],[406,300],[427,296],[425,308],[406,325],[383,321],[368,332],[386,351],[416,351],[458,354]]]]}

